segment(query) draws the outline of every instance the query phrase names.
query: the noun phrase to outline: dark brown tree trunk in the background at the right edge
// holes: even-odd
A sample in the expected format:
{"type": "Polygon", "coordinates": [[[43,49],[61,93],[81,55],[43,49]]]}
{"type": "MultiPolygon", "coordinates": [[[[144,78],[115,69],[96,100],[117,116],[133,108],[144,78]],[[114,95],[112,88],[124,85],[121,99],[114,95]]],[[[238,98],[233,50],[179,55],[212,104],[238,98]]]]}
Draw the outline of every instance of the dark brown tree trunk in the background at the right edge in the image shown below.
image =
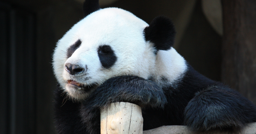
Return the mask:
{"type": "Polygon", "coordinates": [[[256,0],[222,0],[221,80],[256,104],[256,0]]]}

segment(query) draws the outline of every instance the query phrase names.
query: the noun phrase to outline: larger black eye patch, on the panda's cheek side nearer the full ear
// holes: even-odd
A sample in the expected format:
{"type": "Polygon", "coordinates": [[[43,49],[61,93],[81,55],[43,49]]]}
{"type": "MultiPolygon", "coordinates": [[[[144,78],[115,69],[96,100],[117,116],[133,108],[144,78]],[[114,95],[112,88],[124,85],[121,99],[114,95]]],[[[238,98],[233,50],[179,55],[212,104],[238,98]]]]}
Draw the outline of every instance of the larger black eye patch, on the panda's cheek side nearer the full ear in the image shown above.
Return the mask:
{"type": "Polygon", "coordinates": [[[100,58],[101,65],[106,69],[113,66],[117,59],[115,52],[109,45],[99,46],[98,56],[100,58]]]}

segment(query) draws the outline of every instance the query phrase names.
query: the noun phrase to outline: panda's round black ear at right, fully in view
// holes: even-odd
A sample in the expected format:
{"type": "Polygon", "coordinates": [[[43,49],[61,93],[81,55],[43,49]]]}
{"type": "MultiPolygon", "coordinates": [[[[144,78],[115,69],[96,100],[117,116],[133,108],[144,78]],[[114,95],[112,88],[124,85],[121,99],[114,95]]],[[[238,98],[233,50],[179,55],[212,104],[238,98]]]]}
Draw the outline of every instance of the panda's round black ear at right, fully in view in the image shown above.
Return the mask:
{"type": "Polygon", "coordinates": [[[171,19],[158,16],[144,29],[146,41],[154,43],[157,50],[169,50],[174,44],[175,28],[171,19]]]}

